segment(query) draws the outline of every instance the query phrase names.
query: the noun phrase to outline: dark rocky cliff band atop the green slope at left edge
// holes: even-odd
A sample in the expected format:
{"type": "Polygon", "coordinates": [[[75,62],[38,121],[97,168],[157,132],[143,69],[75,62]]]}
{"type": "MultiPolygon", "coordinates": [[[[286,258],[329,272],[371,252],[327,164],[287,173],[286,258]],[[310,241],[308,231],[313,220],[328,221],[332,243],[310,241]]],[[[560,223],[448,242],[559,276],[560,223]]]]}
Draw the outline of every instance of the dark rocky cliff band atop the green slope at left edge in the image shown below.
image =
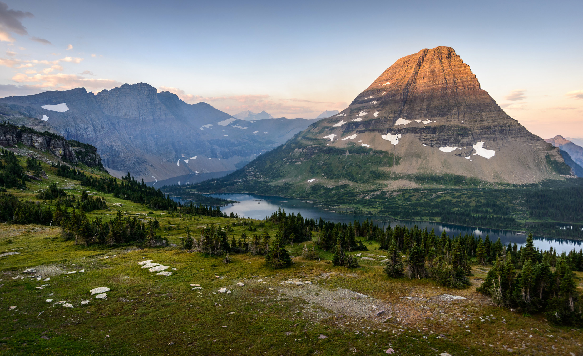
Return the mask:
{"type": "Polygon", "coordinates": [[[48,132],[40,133],[28,127],[17,127],[11,124],[0,124],[0,145],[14,147],[22,143],[40,151],[48,151],[65,162],[73,165],[84,163],[89,167],[103,169],[101,157],[97,148],[77,141],[68,141],[65,138],[48,132]]]}

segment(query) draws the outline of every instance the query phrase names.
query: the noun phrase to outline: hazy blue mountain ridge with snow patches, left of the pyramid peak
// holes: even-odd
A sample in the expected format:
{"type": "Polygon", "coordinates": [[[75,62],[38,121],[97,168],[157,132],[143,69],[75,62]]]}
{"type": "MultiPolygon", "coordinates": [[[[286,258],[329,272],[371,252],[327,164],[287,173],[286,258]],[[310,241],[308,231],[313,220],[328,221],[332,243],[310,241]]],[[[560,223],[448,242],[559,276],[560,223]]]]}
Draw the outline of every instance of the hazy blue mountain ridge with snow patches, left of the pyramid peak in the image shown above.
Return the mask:
{"type": "Polygon", "coordinates": [[[97,147],[115,176],[154,181],[241,168],[285,143],[305,119],[238,120],[209,104],[187,104],[146,83],[99,94],[85,88],[0,99],[10,123],[97,147]]]}

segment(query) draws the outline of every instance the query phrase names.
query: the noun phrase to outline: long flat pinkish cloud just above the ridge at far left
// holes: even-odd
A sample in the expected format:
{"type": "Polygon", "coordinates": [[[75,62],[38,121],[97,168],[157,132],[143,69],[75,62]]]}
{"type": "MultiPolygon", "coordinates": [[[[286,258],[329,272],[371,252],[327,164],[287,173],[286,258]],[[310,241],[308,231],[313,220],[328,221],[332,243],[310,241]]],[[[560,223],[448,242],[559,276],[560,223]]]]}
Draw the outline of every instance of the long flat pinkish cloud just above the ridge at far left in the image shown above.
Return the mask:
{"type": "Polygon", "coordinates": [[[23,73],[17,73],[12,77],[13,81],[17,83],[37,83],[30,84],[30,87],[47,89],[47,90],[63,90],[78,87],[85,87],[90,90],[111,89],[113,87],[121,86],[117,80],[112,79],[93,79],[84,78],[77,74],[36,74],[34,76],[27,76],[23,73]]]}

